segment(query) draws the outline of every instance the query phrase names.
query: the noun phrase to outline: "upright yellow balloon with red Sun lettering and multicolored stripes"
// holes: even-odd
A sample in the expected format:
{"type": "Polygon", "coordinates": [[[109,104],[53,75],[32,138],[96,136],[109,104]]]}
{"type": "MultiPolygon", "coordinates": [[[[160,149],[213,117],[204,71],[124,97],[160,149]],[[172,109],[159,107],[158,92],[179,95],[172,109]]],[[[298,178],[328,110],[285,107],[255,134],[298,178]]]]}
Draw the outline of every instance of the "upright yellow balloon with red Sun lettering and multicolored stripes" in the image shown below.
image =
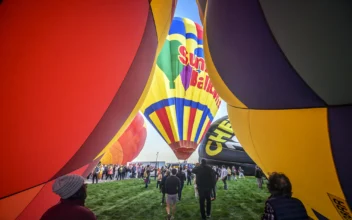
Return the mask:
{"type": "Polygon", "coordinates": [[[174,18],[143,114],[184,160],[202,140],[220,102],[204,62],[202,27],[187,18],[174,18]]]}

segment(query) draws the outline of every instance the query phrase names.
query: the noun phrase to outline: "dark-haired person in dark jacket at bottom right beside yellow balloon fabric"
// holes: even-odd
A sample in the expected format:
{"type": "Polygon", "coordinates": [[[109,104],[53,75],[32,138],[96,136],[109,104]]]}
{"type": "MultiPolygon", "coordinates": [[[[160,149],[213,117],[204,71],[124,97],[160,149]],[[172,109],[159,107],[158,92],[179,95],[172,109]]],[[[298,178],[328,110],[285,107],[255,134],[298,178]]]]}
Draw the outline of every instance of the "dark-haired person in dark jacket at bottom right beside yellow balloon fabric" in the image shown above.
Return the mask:
{"type": "Polygon", "coordinates": [[[285,174],[272,173],[269,177],[270,197],[265,202],[262,220],[308,220],[303,203],[292,197],[292,185],[285,174]]]}

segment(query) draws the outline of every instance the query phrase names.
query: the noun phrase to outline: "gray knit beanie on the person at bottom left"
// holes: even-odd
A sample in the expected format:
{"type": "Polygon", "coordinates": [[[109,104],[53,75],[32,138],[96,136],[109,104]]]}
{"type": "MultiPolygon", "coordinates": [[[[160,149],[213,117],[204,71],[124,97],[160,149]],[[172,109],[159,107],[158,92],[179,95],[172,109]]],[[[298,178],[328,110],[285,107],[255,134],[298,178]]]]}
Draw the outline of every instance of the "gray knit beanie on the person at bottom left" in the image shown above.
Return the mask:
{"type": "Polygon", "coordinates": [[[62,199],[73,196],[84,184],[84,178],[76,174],[61,176],[53,184],[53,192],[62,199]]]}

